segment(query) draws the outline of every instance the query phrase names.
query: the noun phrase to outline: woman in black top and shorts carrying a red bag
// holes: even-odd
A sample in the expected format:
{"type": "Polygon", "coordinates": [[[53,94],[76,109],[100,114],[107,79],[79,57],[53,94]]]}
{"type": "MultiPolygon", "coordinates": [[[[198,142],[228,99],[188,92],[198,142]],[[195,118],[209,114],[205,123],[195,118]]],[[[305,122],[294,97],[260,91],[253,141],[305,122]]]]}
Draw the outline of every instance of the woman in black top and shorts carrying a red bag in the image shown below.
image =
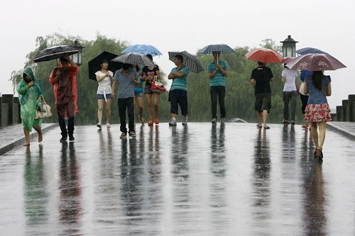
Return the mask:
{"type": "MultiPolygon", "coordinates": [[[[148,54],[147,57],[151,59],[153,62],[153,56],[148,54]]],[[[155,67],[143,67],[143,80],[146,81],[146,88],[144,89],[144,94],[146,94],[146,99],[147,99],[147,111],[148,111],[148,116],[149,116],[149,122],[148,125],[153,125],[153,113],[152,113],[152,95],[153,95],[153,104],[154,104],[154,122],[156,125],[159,123],[158,119],[158,111],[159,111],[159,97],[160,94],[155,93],[151,91],[151,85],[154,81],[154,79],[160,79],[160,71],[159,67],[157,64],[155,64],[155,67]]]]}

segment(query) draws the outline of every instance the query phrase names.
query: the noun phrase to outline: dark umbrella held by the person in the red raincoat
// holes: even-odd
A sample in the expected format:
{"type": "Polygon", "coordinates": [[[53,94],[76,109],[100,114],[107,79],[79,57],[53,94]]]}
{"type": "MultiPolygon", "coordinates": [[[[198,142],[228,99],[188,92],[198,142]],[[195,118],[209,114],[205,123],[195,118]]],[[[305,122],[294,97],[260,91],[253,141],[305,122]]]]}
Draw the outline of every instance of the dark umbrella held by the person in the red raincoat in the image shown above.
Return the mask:
{"type": "Polygon", "coordinates": [[[79,50],[71,46],[60,45],[48,47],[45,50],[39,51],[37,55],[35,55],[35,58],[33,58],[33,62],[46,62],[63,57],[65,55],[70,56],[77,52],[79,52],[79,50]]]}

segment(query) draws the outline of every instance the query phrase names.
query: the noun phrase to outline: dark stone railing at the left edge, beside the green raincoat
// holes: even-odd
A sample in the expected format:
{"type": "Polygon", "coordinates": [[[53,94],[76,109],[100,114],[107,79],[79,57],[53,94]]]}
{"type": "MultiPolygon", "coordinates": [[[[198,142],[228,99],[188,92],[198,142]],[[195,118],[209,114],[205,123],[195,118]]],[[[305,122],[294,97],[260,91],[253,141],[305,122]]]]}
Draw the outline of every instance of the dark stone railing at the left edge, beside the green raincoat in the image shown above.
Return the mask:
{"type": "Polygon", "coordinates": [[[20,101],[13,94],[0,96],[0,126],[21,123],[20,101]]]}

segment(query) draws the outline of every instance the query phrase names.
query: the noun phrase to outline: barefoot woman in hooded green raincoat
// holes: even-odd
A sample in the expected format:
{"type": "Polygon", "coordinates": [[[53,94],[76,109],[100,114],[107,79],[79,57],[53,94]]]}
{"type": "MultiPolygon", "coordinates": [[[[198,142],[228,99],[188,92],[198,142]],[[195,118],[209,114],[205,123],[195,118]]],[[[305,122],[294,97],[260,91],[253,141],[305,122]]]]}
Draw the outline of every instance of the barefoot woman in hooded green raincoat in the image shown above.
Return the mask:
{"type": "Polygon", "coordinates": [[[21,103],[21,119],[26,142],[23,146],[30,145],[30,132],[32,128],[38,132],[38,142],[42,142],[43,135],[40,125],[42,119],[35,120],[36,101],[42,101],[43,87],[40,79],[36,79],[31,67],[26,67],[22,72],[22,80],[17,85],[18,100],[21,103]]]}

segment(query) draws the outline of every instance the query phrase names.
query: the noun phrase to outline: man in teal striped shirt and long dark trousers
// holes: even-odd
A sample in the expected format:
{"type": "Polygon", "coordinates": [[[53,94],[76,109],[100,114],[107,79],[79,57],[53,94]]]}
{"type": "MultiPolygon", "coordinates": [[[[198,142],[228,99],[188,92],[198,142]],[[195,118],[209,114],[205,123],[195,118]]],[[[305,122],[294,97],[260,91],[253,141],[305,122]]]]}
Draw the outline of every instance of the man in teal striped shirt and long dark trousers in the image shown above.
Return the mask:
{"type": "Polygon", "coordinates": [[[221,122],[225,122],[226,107],[224,106],[224,96],[226,94],[225,77],[228,77],[228,65],[220,60],[221,52],[212,52],[213,62],[207,66],[207,73],[210,79],[209,91],[212,103],[212,123],[217,123],[217,100],[219,102],[219,112],[221,113],[221,122]]]}

